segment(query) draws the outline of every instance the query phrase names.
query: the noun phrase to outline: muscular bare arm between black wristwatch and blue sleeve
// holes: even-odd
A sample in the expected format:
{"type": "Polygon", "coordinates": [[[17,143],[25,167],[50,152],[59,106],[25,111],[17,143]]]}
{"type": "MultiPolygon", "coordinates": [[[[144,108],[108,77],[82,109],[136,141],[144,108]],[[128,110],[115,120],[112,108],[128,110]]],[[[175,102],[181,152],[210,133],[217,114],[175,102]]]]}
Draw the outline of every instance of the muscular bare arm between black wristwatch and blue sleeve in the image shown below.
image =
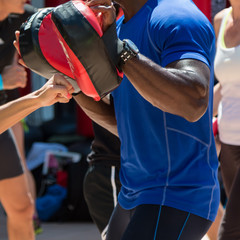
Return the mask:
{"type": "MultiPolygon", "coordinates": [[[[136,90],[152,105],[189,121],[196,121],[207,108],[208,82],[203,81],[199,77],[201,73],[196,72],[199,66],[188,69],[190,64],[187,61],[185,66],[181,66],[181,61],[173,64],[162,68],[139,55],[139,58],[129,60],[123,71],[136,90]]],[[[204,69],[206,75],[208,70],[204,69]]]]}

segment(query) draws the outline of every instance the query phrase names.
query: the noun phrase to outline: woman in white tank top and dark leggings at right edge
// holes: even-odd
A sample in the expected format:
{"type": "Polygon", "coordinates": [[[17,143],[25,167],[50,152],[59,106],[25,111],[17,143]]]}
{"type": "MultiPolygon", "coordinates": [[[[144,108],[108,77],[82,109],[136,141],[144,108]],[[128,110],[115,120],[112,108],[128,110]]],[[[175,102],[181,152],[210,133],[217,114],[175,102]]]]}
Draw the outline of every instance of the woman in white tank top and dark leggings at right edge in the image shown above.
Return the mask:
{"type": "Polygon", "coordinates": [[[217,38],[213,114],[218,116],[220,167],[228,198],[219,240],[240,239],[240,1],[214,18],[217,38]]]}

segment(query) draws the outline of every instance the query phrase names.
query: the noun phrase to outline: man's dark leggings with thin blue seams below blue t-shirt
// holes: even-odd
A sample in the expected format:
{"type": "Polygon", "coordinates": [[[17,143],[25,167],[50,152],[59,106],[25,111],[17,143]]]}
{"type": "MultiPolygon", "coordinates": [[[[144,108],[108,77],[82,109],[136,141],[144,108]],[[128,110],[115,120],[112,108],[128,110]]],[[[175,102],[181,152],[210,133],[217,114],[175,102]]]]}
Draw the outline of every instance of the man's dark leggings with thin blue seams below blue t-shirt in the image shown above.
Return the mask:
{"type": "Polygon", "coordinates": [[[140,205],[125,210],[119,204],[106,240],[200,240],[212,222],[175,208],[140,205]]]}

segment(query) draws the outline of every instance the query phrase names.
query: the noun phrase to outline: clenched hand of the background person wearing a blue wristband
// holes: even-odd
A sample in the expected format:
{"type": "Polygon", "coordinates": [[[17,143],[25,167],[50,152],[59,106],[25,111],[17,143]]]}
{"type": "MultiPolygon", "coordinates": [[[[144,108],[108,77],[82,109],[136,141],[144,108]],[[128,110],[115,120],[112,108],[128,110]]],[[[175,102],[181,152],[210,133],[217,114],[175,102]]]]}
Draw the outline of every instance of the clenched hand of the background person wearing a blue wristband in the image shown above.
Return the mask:
{"type": "Polygon", "coordinates": [[[27,84],[27,72],[23,66],[18,64],[18,54],[16,53],[11,65],[5,66],[2,71],[4,89],[24,88],[27,84]]]}

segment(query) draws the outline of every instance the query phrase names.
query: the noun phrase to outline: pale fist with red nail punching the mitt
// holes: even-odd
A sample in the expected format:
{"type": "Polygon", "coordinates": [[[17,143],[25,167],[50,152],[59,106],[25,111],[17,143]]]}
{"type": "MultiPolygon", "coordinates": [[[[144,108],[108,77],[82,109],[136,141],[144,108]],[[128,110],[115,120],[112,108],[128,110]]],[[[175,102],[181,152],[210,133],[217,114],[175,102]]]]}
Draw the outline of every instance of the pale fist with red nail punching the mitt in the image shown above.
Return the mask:
{"type": "Polygon", "coordinates": [[[67,103],[72,98],[74,89],[61,75],[55,74],[34,95],[39,99],[40,107],[50,106],[56,102],[67,103]]]}

